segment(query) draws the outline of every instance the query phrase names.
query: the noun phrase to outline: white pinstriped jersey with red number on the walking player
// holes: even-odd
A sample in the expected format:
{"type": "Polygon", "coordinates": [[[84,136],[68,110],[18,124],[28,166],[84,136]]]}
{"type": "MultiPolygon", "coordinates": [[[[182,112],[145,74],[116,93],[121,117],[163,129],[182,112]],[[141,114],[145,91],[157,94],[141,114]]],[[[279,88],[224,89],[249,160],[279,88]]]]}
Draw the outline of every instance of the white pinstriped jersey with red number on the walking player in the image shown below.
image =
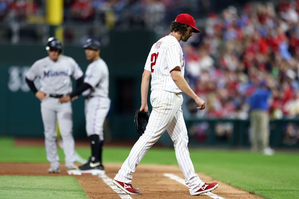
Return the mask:
{"type": "Polygon", "coordinates": [[[144,69],[152,72],[151,90],[182,92],[171,78],[170,71],[181,68],[184,77],[185,59],[178,40],[168,35],[157,41],[151,48],[144,69]]]}

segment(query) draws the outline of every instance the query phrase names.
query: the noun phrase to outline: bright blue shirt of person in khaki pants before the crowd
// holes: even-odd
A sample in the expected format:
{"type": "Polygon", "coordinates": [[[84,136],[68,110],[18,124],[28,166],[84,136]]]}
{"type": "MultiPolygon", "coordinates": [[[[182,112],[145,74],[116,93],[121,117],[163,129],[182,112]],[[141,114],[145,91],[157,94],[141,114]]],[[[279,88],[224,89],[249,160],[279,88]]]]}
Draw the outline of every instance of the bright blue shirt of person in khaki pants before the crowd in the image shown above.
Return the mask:
{"type": "Polygon", "coordinates": [[[251,110],[261,109],[268,110],[268,98],[271,95],[270,90],[258,88],[249,98],[251,110]]]}

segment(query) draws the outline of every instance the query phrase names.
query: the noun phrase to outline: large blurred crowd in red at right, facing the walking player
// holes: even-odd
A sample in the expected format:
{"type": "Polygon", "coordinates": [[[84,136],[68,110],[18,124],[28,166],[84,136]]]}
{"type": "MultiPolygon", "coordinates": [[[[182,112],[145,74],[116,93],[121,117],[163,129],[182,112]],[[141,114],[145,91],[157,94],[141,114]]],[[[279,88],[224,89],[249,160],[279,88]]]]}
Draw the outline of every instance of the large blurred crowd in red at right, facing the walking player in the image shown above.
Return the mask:
{"type": "Polygon", "coordinates": [[[261,84],[275,87],[270,118],[299,115],[299,1],[229,6],[210,13],[202,33],[183,46],[185,77],[206,101],[198,117],[247,119],[248,101],[261,84]]]}

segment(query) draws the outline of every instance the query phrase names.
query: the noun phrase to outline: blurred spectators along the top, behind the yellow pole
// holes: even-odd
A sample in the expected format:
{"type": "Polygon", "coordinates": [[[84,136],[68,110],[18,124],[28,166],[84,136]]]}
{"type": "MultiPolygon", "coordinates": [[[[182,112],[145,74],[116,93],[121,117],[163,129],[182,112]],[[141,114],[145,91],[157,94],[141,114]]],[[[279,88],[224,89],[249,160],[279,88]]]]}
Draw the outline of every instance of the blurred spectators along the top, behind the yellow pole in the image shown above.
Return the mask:
{"type": "MultiPolygon", "coordinates": [[[[204,0],[206,1],[206,0],[204,0]]],[[[166,12],[198,8],[198,1],[182,0],[64,0],[64,21],[94,21],[118,27],[154,27],[162,25],[166,12]],[[190,2],[195,2],[189,4],[190,2]],[[192,5],[192,6],[191,6],[192,5]]],[[[25,21],[26,17],[44,16],[45,0],[0,0],[0,21],[25,21]]],[[[192,10],[192,9],[191,9],[192,10]]],[[[99,24],[100,25],[100,24],[99,24]]]]}

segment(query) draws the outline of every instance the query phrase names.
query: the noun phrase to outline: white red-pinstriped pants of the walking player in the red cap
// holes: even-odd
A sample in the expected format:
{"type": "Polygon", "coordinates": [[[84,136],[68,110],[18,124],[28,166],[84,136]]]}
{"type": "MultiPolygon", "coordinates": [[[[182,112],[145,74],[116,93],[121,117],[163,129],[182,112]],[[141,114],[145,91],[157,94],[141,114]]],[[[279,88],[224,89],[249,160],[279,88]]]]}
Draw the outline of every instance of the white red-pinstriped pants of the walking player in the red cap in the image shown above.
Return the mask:
{"type": "Polygon", "coordinates": [[[135,172],[141,159],[149,148],[158,141],[164,131],[167,130],[174,143],[179,167],[186,178],[185,183],[190,193],[194,193],[205,183],[195,173],[190,159],[187,146],[187,129],[183,118],[183,111],[181,110],[183,97],[181,93],[152,90],[150,101],[153,108],[147,128],[133,146],[128,158],[121,166],[114,180],[131,183],[132,174],[135,172]]]}

